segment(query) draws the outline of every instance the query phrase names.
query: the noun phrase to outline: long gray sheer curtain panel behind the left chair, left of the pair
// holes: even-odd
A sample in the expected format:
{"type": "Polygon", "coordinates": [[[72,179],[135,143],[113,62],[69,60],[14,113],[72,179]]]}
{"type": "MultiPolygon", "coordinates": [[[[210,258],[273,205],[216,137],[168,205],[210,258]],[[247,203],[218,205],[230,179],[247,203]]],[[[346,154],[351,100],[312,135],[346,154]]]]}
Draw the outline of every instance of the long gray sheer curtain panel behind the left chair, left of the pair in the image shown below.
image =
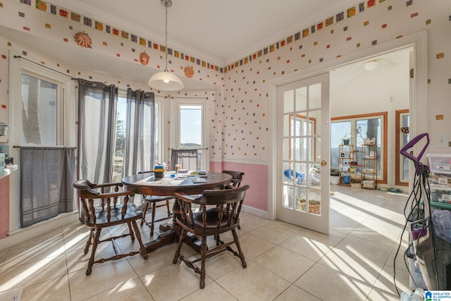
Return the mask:
{"type": "Polygon", "coordinates": [[[118,88],[78,80],[79,178],[109,183],[113,178],[118,88]]]}

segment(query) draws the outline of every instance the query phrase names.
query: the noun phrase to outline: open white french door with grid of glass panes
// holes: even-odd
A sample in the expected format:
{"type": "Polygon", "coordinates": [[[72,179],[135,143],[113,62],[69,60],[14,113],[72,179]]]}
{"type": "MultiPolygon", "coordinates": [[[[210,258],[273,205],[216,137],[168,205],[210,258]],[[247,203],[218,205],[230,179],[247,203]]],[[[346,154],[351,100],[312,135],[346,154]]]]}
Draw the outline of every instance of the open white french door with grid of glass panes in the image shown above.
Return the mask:
{"type": "Polygon", "coordinates": [[[329,74],[277,88],[278,220],[329,233],[329,74]]]}

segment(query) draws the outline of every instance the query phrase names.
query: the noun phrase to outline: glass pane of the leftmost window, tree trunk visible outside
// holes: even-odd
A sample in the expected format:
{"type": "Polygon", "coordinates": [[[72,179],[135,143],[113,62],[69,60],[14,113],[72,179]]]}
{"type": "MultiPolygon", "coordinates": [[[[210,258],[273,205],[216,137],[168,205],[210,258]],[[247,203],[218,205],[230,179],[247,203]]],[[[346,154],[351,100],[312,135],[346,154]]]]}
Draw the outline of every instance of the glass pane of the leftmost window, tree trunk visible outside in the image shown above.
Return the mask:
{"type": "Polygon", "coordinates": [[[22,145],[58,145],[58,85],[22,74],[22,145]]]}

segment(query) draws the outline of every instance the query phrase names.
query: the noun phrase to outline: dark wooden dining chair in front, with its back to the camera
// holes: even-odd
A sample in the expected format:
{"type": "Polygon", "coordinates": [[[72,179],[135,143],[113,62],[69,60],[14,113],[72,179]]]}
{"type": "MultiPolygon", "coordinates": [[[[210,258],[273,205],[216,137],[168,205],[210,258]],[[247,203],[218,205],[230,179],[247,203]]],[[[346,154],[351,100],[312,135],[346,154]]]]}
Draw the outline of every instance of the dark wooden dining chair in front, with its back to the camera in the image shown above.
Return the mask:
{"type": "Polygon", "coordinates": [[[173,264],[176,264],[178,259],[180,259],[180,261],[193,269],[195,273],[199,274],[200,288],[205,287],[205,259],[209,257],[224,251],[230,251],[235,256],[240,257],[243,268],[247,266],[236,228],[240,225],[241,206],[248,189],[249,185],[244,185],[240,188],[205,190],[199,197],[178,192],[174,195],[178,199],[180,206],[180,215],[175,220],[182,228],[182,231],[174,254],[173,264]],[[194,211],[192,204],[199,204],[200,211],[194,211]],[[207,208],[209,205],[214,205],[214,207],[207,208]],[[223,242],[220,235],[228,231],[232,232],[233,240],[223,242]],[[189,259],[180,253],[180,248],[188,232],[202,237],[200,257],[196,259],[189,259]],[[206,238],[208,236],[214,237],[216,247],[207,247],[206,238]],[[236,245],[237,251],[230,247],[233,244],[236,245]],[[200,269],[196,262],[201,262],[200,269]]]}

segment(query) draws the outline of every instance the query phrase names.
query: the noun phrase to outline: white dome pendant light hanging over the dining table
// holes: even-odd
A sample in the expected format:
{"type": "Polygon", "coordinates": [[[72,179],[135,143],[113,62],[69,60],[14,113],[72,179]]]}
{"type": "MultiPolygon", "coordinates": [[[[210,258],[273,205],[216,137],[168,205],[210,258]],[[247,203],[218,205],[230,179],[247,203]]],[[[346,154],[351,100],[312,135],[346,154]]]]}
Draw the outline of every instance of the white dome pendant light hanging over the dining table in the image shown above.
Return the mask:
{"type": "Polygon", "coordinates": [[[166,41],[164,48],[165,68],[163,72],[156,73],[147,83],[156,90],[177,91],[183,89],[183,82],[174,73],[168,71],[168,7],[172,6],[171,0],[160,0],[161,5],[166,8],[166,41]]]}

